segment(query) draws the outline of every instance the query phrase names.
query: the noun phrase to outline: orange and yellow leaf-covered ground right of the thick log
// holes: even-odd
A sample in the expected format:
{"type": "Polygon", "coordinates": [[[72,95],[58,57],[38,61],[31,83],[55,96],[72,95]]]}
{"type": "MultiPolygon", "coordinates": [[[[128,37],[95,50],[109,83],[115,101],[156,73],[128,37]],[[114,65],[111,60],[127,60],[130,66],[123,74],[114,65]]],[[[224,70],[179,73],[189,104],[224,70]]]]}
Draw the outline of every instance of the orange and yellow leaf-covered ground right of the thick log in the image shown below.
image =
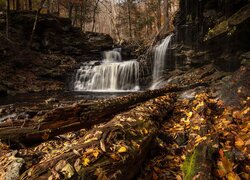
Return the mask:
{"type": "Polygon", "coordinates": [[[205,170],[217,179],[249,179],[249,105],[249,97],[235,108],[207,93],[179,100],[173,116],[160,129],[160,150],[147,163],[141,179],[190,179],[190,175],[199,179],[209,174],[196,166],[210,166],[205,170]],[[200,153],[198,146],[209,146],[209,157],[191,162],[190,157],[200,153]]]}

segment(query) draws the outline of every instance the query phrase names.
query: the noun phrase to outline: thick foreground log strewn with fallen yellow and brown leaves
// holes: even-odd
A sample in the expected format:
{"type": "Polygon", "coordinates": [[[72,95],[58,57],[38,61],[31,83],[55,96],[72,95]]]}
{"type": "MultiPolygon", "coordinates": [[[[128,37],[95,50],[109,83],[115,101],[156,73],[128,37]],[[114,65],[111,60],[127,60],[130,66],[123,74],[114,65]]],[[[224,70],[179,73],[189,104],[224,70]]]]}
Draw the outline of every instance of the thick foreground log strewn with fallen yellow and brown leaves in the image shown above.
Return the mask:
{"type": "MultiPolygon", "coordinates": [[[[19,150],[16,156],[25,160],[26,168],[20,179],[132,179],[174,101],[174,95],[149,100],[53,151],[42,150],[47,149],[49,141],[43,146],[19,150]]],[[[8,168],[6,164],[10,163],[2,159],[0,169],[8,168]]]]}

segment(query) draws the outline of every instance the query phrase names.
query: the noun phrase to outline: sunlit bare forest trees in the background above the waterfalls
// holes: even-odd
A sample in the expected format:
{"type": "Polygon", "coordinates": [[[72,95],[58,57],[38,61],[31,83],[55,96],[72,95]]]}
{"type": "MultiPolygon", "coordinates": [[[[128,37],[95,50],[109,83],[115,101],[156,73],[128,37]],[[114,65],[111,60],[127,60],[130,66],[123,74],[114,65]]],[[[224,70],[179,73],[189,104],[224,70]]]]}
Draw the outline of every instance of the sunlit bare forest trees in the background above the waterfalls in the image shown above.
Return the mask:
{"type": "Polygon", "coordinates": [[[83,32],[110,34],[118,42],[122,42],[147,40],[156,34],[172,31],[173,16],[178,10],[179,1],[45,0],[40,9],[41,0],[0,0],[2,14],[7,13],[8,5],[10,11],[40,11],[43,14],[67,17],[74,27],[79,27],[83,32]]]}

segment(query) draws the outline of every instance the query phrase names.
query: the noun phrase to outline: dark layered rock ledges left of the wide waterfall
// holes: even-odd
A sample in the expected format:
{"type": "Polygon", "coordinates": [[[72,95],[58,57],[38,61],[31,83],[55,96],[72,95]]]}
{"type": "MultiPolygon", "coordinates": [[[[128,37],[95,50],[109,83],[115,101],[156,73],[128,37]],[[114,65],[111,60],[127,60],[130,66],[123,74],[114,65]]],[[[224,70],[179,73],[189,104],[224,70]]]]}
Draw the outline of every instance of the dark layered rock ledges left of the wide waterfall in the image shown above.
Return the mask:
{"type": "Polygon", "coordinates": [[[34,19],[32,12],[10,14],[10,40],[0,37],[0,95],[62,90],[77,62],[100,59],[113,46],[109,35],[83,33],[69,19],[52,15],[38,17],[30,43],[34,19]]]}

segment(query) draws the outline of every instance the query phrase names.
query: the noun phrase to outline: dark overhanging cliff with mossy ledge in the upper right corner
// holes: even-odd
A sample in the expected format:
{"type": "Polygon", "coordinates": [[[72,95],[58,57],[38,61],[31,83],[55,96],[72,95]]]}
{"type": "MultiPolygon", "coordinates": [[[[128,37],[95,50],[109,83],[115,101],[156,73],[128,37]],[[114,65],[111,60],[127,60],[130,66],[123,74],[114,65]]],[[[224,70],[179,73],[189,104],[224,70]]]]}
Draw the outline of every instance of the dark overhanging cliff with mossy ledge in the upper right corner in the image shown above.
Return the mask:
{"type": "Polygon", "coordinates": [[[186,50],[180,55],[191,65],[213,62],[224,71],[238,69],[241,55],[250,49],[249,12],[246,0],[181,0],[175,41],[186,50]]]}

